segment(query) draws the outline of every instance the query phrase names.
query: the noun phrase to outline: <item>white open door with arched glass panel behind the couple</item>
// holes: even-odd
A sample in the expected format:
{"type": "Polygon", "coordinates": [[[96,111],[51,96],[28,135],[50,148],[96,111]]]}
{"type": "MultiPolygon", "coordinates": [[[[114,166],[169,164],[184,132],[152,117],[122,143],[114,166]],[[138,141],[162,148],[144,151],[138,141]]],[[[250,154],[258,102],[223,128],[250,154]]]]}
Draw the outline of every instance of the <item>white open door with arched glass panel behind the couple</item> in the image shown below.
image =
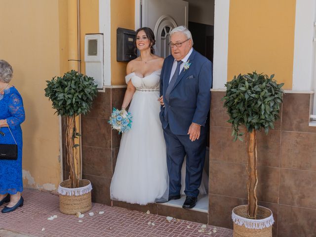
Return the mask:
{"type": "Polygon", "coordinates": [[[181,25],[188,27],[188,11],[189,3],[184,0],[142,1],[142,26],[154,31],[155,54],[163,58],[170,55],[170,31],[181,25]]]}

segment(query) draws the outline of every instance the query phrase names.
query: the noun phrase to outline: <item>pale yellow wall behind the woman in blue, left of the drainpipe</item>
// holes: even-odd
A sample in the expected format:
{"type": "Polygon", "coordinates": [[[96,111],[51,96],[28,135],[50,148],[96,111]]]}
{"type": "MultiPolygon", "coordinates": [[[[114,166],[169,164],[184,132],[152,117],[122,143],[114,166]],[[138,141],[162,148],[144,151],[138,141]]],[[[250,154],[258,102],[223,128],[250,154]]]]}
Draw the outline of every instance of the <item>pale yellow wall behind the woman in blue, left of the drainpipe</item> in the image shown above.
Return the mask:
{"type": "Polygon", "coordinates": [[[67,67],[67,2],[2,0],[0,58],[14,70],[12,84],[26,111],[23,130],[25,187],[57,189],[61,180],[59,118],[44,97],[45,80],[67,67]],[[60,27],[61,26],[61,27],[60,27]]]}

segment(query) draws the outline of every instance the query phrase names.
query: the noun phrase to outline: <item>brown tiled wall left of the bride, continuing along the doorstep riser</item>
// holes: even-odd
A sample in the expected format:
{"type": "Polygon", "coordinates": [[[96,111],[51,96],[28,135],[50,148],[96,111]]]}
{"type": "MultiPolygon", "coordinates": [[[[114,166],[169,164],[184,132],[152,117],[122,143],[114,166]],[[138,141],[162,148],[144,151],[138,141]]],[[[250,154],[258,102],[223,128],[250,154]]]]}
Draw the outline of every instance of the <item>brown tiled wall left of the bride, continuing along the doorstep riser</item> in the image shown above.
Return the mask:
{"type": "MultiPolygon", "coordinates": [[[[82,116],[82,171],[91,181],[92,201],[111,205],[110,184],[118,157],[120,136],[107,123],[112,108],[120,108],[125,88],[107,88],[99,92],[89,114],[82,116]]],[[[64,166],[65,167],[65,166],[64,166]]],[[[164,216],[173,216],[199,223],[207,223],[207,213],[152,203],[148,205],[113,201],[113,205],[164,216]]]]}

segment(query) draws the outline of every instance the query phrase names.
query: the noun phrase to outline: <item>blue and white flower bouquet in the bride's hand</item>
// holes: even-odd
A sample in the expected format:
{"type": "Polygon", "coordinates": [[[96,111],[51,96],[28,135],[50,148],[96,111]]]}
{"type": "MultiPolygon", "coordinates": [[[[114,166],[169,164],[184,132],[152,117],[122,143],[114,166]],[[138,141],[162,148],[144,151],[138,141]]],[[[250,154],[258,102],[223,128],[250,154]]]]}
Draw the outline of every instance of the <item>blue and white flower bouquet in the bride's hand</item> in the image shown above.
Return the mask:
{"type": "Polygon", "coordinates": [[[126,132],[132,127],[132,115],[126,110],[113,108],[110,120],[112,129],[118,130],[118,134],[126,132]]]}

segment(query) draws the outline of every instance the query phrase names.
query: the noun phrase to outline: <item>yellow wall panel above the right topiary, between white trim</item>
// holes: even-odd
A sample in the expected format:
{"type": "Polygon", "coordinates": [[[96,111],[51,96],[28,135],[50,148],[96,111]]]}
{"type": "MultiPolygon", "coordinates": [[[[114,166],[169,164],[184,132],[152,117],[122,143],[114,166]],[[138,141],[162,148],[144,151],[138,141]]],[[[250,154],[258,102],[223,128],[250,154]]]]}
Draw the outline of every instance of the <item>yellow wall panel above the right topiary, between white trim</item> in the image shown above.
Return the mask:
{"type": "Polygon", "coordinates": [[[292,88],[296,0],[231,0],[228,80],[256,70],[292,88]]]}

